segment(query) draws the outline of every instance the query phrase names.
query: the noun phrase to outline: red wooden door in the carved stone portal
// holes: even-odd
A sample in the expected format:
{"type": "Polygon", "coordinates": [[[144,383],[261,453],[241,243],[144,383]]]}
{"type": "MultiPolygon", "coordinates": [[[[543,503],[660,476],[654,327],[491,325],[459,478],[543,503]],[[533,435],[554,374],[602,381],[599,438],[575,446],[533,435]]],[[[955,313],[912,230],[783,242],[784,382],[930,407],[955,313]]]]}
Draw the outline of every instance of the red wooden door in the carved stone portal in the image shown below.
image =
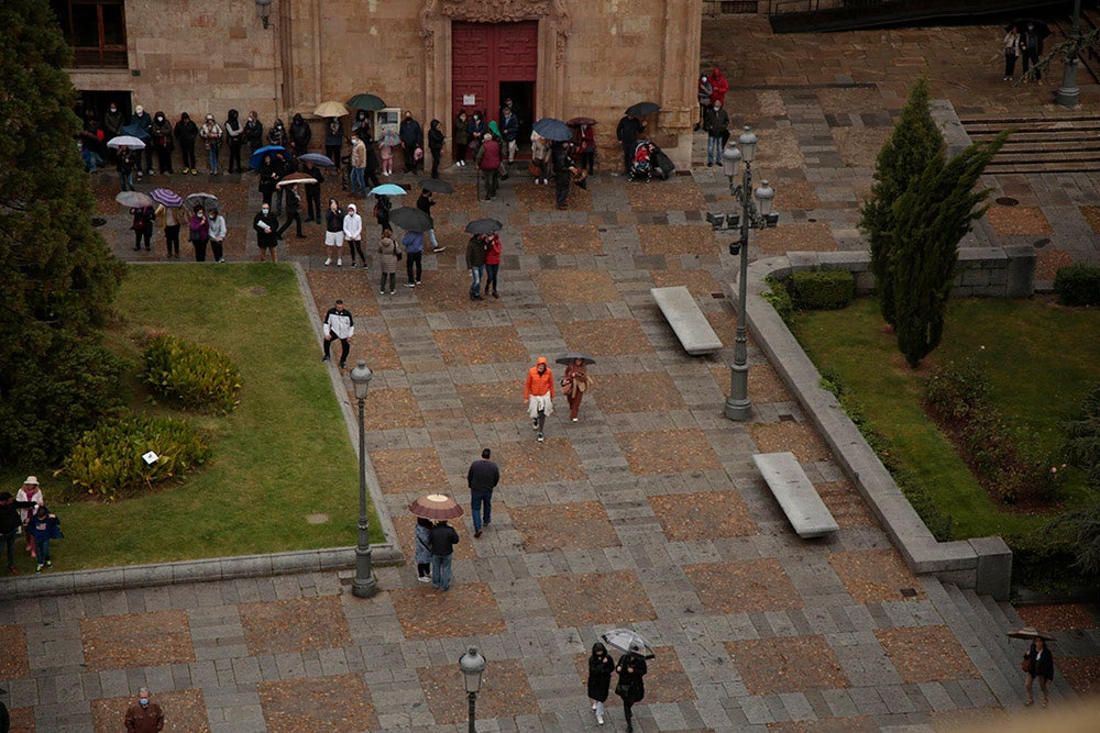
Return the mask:
{"type": "Polygon", "coordinates": [[[496,120],[502,81],[531,81],[538,75],[539,25],[522,23],[453,23],[451,25],[451,113],[480,109],[496,120]],[[473,95],[474,103],[463,104],[473,95]]]}

